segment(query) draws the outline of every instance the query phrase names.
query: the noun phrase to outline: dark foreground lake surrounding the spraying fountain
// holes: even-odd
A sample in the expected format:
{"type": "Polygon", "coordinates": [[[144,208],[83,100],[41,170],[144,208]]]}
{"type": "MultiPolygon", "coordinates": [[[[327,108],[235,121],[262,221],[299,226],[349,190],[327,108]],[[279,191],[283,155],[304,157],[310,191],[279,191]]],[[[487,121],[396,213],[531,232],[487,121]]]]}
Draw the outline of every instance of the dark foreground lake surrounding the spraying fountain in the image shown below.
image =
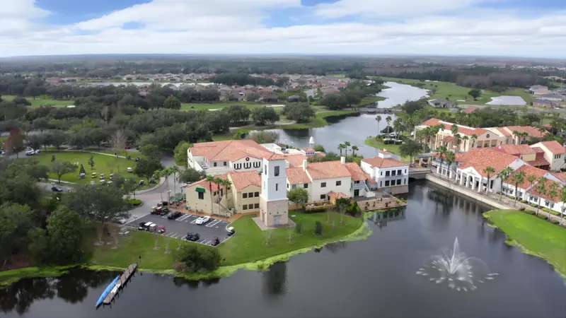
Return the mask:
{"type": "Polygon", "coordinates": [[[406,197],[403,214],[368,221],[368,240],[296,255],[266,272],[202,282],[137,273],[111,307],[96,310],[116,273],[81,270],[0,290],[0,311],[6,318],[565,317],[562,278],[505,244],[502,232],[483,223],[487,207],[425,182],[410,184],[406,197]],[[467,292],[417,275],[456,236],[463,252],[499,275],[467,292]]]}

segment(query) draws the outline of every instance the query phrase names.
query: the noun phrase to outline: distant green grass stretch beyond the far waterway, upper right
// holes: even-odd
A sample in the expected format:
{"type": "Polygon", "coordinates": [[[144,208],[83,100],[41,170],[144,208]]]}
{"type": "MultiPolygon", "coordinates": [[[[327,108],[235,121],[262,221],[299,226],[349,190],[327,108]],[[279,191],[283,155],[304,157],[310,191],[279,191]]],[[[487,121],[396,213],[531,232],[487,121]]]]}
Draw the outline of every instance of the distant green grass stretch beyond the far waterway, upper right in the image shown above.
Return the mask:
{"type": "Polygon", "coordinates": [[[397,83],[408,84],[412,86],[417,86],[417,84],[422,85],[422,88],[427,90],[432,90],[433,88],[437,90],[434,95],[430,97],[430,99],[437,99],[437,98],[444,98],[449,99],[456,104],[485,104],[486,102],[490,102],[492,97],[495,96],[505,96],[505,95],[516,95],[521,96],[526,102],[531,102],[532,98],[529,93],[521,88],[514,88],[510,90],[505,90],[502,93],[493,92],[491,90],[483,90],[483,94],[481,95],[478,100],[473,100],[473,98],[468,95],[470,88],[462,87],[456,85],[456,83],[449,83],[449,82],[422,82],[419,80],[412,80],[412,79],[405,79],[405,78],[389,78],[389,77],[382,77],[383,81],[391,81],[397,83]],[[457,100],[465,100],[464,102],[457,102],[457,100]]]}

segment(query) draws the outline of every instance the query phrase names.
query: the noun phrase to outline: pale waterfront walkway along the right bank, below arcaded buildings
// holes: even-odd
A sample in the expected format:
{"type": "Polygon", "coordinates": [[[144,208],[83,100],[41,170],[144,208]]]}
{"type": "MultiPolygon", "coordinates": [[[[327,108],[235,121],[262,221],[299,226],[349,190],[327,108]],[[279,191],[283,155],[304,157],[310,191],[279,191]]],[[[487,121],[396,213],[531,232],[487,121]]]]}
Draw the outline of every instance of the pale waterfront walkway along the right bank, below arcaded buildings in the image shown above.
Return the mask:
{"type": "MultiPolygon", "coordinates": [[[[500,208],[504,210],[519,210],[519,208],[528,208],[530,210],[536,211],[536,207],[521,203],[521,201],[514,201],[513,199],[510,199],[509,197],[504,195],[501,196],[501,199],[499,199],[499,194],[491,192],[486,194],[485,192],[470,190],[470,188],[461,186],[458,182],[456,182],[455,179],[449,179],[446,176],[441,176],[434,171],[427,174],[427,180],[442,187],[454,190],[460,194],[469,196],[472,199],[482,201],[483,203],[490,205],[493,208],[500,208]]],[[[538,213],[546,216],[549,220],[557,220],[558,222],[560,222],[562,219],[560,218],[560,216],[555,216],[551,213],[543,211],[542,209],[539,209],[538,213]]],[[[566,223],[566,220],[562,220],[562,223],[566,223]]]]}

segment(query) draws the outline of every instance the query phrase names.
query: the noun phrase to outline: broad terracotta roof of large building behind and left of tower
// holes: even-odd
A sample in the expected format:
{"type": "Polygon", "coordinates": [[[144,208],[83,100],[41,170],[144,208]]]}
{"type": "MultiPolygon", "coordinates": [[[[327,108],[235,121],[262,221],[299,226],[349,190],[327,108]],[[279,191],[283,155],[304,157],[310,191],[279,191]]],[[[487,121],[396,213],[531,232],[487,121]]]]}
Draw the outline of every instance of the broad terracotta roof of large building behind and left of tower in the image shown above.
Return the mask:
{"type": "Polygon", "coordinates": [[[253,140],[227,140],[195,143],[190,148],[190,152],[193,155],[202,155],[209,161],[236,161],[246,157],[262,159],[273,155],[271,151],[268,151],[253,140]]]}

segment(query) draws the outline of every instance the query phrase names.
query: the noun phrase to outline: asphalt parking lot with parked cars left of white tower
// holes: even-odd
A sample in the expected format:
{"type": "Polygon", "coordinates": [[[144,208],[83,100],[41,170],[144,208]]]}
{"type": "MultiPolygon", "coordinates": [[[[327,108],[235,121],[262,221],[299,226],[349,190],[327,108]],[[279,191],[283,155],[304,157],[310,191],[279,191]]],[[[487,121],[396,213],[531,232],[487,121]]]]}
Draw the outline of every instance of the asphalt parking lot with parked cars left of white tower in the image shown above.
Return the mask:
{"type": "Polygon", "coordinates": [[[212,239],[214,239],[215,236],[219,238],[220,243],[229,238],[228,232],[226,232],[226,226],[229,225],[229,222],[211,218],[207,223],[197,225],[195,223],[197,218],[199,218],[199,216],[183,214],[176,220],[169,220],[166,216],[148,214],[147,216],[138,218],[127,225],[134,226],[135,228],[137,228],[139,223],[142,222],[152,222],[157,225],[165,225],[166,232],[163,233],[163,236],[179,240],[183,239],[183,237],[187,235],[187,232],[199,233],[200,240],[198,240],[197,243],[206,245],[210,245],[210,242],[212,242],[212,239]]]}

